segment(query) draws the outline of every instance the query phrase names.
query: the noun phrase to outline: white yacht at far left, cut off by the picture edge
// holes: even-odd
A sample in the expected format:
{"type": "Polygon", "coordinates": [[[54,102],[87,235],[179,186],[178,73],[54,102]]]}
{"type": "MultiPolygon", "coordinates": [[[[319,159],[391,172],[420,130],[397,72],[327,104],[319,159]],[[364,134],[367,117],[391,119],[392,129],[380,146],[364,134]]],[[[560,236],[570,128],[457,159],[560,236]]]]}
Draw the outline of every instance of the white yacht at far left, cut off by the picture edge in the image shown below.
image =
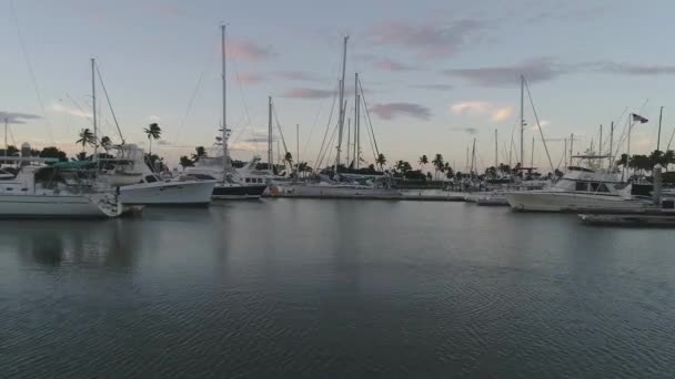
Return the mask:
{"type": "Polygon", "coordinates": [[[28,155],[2,161],[14,166],[0,170],[0,217],[107,218],[122,213],[118,196],[97,191],[81,172],[70,170],[71,162],[47,165],[53,160],[31,157],[30,146],[28,155]]]}

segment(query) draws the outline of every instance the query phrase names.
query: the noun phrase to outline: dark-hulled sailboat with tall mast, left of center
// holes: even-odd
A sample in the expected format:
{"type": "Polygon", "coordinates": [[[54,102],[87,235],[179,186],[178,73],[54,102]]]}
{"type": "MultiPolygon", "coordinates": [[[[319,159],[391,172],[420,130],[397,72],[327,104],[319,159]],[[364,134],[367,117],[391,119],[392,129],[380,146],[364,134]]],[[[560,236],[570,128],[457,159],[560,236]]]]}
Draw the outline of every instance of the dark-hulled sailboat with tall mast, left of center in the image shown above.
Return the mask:
{"type": "Polygon", "coordinates": [[[268,188],[264,181],[251,182],[246,181],[232,166],[232,158],[228,143],[230,139],[230,130],[228,129],[228,81],[226,81],[226,51],[225,51],[225,25],[221,25],[221,55],[222,55],[222,112],[223,125],[221,129],[222,136],[220,146],[222,147],[220,156],[204,156],[195,162],[193,167],[187,167],[182,177],[195,178],[198,181],[216,181],[213,187],[212,197],[214,199],[255,199],[260,198],[268,188]]]}

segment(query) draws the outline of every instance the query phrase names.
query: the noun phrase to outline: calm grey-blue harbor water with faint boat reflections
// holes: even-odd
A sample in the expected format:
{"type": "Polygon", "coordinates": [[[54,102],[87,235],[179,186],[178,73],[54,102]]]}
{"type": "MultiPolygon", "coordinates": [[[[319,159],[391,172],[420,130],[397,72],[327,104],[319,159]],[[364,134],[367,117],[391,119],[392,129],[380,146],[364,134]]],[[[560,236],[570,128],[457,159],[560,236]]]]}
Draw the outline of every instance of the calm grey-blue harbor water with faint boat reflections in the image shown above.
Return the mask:
{"type": "Polygon", "coordinates": [[[0,223],[0,377],[674,377],[675,233],[462,203],[0,223]]]}

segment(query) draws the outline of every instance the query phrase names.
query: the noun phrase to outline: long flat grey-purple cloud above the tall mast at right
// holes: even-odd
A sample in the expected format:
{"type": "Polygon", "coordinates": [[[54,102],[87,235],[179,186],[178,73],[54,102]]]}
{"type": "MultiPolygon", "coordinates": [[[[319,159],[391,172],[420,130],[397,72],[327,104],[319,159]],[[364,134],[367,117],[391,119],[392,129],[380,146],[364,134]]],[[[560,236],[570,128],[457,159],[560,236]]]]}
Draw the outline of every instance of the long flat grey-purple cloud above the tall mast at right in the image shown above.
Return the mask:
{"type": "Polygon", "coordinates": [[[477,69],[452,69],[443,73],[462,78],[478,86],[515,86],[520,85],[521,74],[527,82],[553,80],[562,74],[572,72],[574,65],[563,65],[547,58],[537,58],[513,65],[496,65],[477,69]]]}

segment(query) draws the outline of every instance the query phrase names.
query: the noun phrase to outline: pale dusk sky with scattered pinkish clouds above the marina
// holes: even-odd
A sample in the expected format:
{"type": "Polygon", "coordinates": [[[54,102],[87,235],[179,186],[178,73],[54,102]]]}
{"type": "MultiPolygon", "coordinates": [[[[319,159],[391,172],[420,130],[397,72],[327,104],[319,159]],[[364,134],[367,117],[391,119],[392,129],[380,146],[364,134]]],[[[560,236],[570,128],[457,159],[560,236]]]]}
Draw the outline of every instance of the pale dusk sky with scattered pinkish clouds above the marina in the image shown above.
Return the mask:
{"type": "MultiPolygon", "coordinates": [[[[675,126],[668,43],[675,3],[667,0],[638,8],[623,0],[0,0],[0,112],[11,124],[10,143],[36,148],[81,150],[78,132],[92,124],[91,58],[128,143],[148,148],[142,130],[158,122],[163,133],[153,152],[169,163],[210,146],[222,119],[221,22],[228,125],[240,160],[264,156],[272,96],[288,148],[310,165],[318,161],[326,126],[335,125],[330,113],[344,35],[347,114],[359,72],[389,162],[417,166],[422,154],[440,153],[463,171],[475,139],[477,165],[485,167],[495,161],[496,130],[497,160],[508,162],[512,151],[515,163],[521,74],[536,110],[535,116],[526,93],[526,164],[533,137],[534,165],[544,170],[560,166],[572,133],[575,153],[592,143],[597,150],[601,124],[606,152],[612,122],[625,151],[632,112],[649,120],[634,126],[632,153],[656,147],[662,106],[662,150],[675,126]]],[[[100,134],[119,142],[97,86],[100,134]]],[[[372,163],[370,144],[362,146],[372,163]]]]}

